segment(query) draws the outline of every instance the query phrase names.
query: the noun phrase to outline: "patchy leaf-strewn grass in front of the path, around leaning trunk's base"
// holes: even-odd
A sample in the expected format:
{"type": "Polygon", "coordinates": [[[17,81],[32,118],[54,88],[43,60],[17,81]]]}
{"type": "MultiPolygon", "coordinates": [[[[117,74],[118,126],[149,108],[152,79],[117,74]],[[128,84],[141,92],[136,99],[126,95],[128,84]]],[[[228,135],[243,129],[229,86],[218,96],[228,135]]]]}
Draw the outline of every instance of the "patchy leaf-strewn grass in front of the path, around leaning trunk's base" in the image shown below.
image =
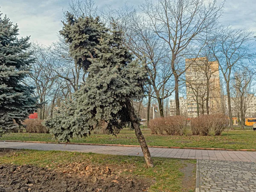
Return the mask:
{"type": "Polygon", "coordinates": [[[67,151],[20,150],[0,152],[0,164],[29,164],[58,171],[69,163],[85,162],[89,166],[123,171],[121,175],[152,180],[149,192],[193,192],[195,189],[195,160],[153,158],[154,168],[145,168],[143,157],[103,155],[67,151]],[[190,173],[185,167],[190,167],[190,173]],[[189,176],[187,175],[189,174],[189,176]],[[185,179],[185,177],[189,177],[185,179]]]}

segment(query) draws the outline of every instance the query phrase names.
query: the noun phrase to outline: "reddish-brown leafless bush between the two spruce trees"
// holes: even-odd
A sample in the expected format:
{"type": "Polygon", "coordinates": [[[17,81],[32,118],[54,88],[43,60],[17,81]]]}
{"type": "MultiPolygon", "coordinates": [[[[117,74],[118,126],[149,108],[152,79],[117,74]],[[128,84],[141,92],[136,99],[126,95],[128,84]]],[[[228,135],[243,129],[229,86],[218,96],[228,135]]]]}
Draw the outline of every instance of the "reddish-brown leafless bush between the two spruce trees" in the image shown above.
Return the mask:
{"type": "Polygon", "coordinates": [[[42,122],[41,119],[26,119],[23,124],[28,133],[49,133],[47,127],[41,124],[42,122]]]}

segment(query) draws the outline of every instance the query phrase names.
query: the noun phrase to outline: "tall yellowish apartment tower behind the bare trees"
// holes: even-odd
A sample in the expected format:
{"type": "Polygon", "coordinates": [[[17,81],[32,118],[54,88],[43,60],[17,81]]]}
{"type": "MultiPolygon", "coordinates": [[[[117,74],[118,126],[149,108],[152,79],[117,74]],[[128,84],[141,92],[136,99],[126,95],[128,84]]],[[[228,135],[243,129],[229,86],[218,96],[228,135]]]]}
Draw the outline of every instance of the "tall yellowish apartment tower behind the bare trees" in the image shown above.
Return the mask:
{"type": "MultiPolygon", "coordinates": [[[[196,117],[206,113],[207,92],[209,92],[209,112],[221,109],[220,77],[217,61],[207,58],[186,59],[186,99],[180,98],[180,113],[196,117]]],[[[170,115],[175,115],[175,100],[170,100],[170,115]]]]}

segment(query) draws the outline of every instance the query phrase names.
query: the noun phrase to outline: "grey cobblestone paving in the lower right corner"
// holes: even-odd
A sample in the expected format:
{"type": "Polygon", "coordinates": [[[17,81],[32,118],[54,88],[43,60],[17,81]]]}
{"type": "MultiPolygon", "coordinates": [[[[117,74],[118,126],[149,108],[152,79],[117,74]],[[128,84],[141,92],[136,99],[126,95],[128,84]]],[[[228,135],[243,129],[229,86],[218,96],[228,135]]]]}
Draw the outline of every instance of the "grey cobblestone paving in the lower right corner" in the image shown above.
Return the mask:
{"type": "Polygon", "coordinates": [[[256,192],[256,163],[199,160],[200,192],[256,192]]]}

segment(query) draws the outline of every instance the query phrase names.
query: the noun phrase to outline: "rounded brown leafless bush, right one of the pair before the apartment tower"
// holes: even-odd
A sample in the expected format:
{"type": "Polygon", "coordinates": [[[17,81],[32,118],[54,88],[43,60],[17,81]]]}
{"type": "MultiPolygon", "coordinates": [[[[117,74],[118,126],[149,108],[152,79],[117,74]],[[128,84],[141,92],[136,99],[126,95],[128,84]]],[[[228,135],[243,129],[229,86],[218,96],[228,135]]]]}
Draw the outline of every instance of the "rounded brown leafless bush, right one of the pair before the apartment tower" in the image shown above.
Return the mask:
{"type": "Polygon", "coordinates": [[[220,135],[227,127],[229,119],[224,114],[201,115],[191,119],[192,134],[220,135]]]}

